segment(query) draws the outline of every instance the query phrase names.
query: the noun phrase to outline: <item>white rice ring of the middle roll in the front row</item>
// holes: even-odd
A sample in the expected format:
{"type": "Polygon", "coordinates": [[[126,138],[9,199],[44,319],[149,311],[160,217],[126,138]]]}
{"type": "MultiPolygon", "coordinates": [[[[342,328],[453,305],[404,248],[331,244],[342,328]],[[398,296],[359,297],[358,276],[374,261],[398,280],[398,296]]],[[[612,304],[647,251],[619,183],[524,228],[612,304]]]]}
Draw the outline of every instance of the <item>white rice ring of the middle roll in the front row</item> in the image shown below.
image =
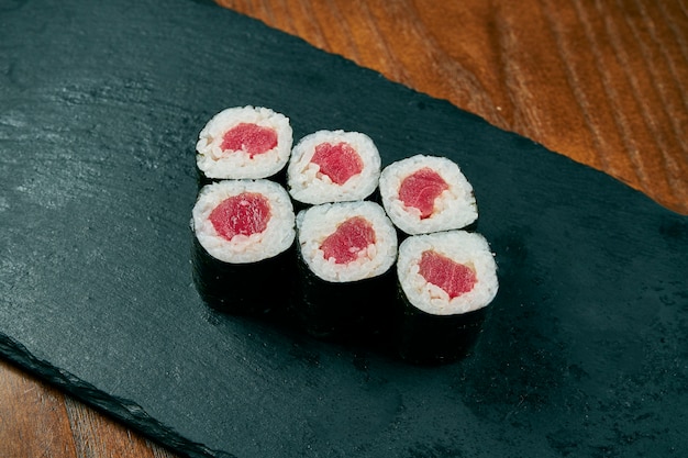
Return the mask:
{"type": "Polygon", "coordinates": [[[375,202],[325,203],[297,215],[298,242],[308,267],[320,278],[332,282],[357,281],[388,271],[397,258],[397,232],[380,205],[375,202]],[[328,236],[351,217],[362,216],[375,231],[375,244],[356,260],[336,264],[325,259],[320,249],[328,236]]]}

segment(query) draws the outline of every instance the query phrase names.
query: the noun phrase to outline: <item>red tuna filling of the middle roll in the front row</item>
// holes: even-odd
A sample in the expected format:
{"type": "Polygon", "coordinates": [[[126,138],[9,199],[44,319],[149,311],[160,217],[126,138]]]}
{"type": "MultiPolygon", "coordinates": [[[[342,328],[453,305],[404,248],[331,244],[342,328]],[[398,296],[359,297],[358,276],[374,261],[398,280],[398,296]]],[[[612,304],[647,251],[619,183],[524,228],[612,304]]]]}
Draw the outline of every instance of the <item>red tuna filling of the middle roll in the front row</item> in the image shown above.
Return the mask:
{"type": "Polygon", "coordinates": [[[348,264],[356,260],[360,252],[374,243],[373,225],[360,216],[354,216],[340,224],[320,245],[320,249],[325,259],[334,258],[336,264],[348,264]]]}

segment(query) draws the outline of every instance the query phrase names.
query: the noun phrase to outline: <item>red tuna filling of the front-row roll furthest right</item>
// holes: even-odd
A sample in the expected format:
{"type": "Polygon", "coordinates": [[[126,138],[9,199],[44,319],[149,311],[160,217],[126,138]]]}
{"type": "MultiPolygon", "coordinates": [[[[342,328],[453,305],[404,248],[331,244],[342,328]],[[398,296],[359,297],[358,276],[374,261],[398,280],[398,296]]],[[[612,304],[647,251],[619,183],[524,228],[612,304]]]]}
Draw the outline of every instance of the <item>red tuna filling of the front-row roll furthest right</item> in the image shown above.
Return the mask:
{"type": "Polygon", "coordinates": [[[442,288],[450,299],[473,290],[478,281],[474,269],[432,250],[423,252],[419,267],[425,281],[442,288]]]}

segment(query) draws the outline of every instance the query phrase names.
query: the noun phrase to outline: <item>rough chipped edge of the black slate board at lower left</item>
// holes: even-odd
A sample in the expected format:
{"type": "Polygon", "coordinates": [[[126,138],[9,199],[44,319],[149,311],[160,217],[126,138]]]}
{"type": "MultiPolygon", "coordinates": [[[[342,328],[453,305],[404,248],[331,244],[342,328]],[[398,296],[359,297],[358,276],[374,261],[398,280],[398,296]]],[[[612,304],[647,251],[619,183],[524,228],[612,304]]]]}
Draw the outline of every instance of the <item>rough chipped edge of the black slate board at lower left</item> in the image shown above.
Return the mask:
{"type": "Polygon", "coordinates": [[[182,437],[148,415],[137,403],[108,394],[73,373],[36,358],[26,347],[3,333],[0,333],[0,355],[14,366],[68,393],[106,416],[115,418],[157,444],[174,450],[175,454],[192,458],[234,457],[226,451],[211,450],[202,444],[182,437]]]}

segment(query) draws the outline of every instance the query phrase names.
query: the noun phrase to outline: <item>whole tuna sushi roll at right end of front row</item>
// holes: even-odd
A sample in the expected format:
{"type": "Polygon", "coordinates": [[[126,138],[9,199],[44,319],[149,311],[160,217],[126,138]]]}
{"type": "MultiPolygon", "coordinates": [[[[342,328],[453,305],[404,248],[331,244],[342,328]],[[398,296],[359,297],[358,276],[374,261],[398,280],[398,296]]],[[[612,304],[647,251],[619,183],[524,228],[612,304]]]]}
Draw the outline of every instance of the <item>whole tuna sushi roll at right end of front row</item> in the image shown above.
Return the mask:
{"type": "Polygon", "coordinates": [[[417,364],[463,357],[498,290],[485,237],[465,231],[408,237],[399,246],[397,277],[400,356],[417,364]]]}

